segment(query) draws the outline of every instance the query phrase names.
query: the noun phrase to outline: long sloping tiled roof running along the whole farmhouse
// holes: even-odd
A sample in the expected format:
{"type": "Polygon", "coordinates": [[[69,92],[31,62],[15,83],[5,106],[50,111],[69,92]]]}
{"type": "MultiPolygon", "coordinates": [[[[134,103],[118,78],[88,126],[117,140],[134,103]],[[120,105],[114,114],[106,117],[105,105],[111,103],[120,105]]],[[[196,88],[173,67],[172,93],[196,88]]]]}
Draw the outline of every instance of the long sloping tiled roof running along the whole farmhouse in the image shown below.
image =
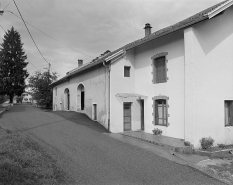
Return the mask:
{"type": "Polygon", "coordinates": [[[119,49],[117,49],[117,50],[115,50],[113,52],[109,52],[108,54],[98,58],[97,60],[91,61],[91,62],[85,64],[84,66],[80,67],[80,68],[73,69],[66,76],[64,76],[63,78],[59,79],[56,82],[53,82],[51,84],[51,86],[55,86],[55,85],[57,85],[57,84],[59,84],[61,82],[66,81],[71,76],[74,76],[74,75],[80,73],[81,71],[84,71],[86,69],[89,69],[91,67],[94,67],[94,66],[96,66],[98,64],[103,63],[105,58],[113,55],[114,53],[116,53],[116,52],[118,52],[118,51],[120,51],[122,49],[124,49],[124,50],[132,49],[132,48],[134,48],[136,46],[142,45],[144,43],[147,43],[147,42],[152,41],[154,39],[157,39],[159,37],[165,36],[167,34],[175,32],[175,31],[187,28],[187,27],[189,27],[189,26],[191,26],[193,24],[196,24],[196,23],[199,23],[201,21],[207,20],[208,19],[207,14],[209,12],[215,10],[216,8],[218,8],[219,6],[223,5],[224,3],[228,2],[228,1],[230,1],[230,0],[225,0],[223,2],[220,2],[220,3],[218,3],[218,4],[214,5],[214,6],[212,6],[210,8],[207,8],[207,9],[205,9],[205,10],[203,10],[203,11],[201,11],[201,12],[199,12],[199,13],[191,16],[191,17],[188,17],[187,19],[184,19],[184,20],[182,20],[182,21],[180,21],[180,22],[178,22],[176,24],[173,24],[173,25],[168,26],[166,28],[160,29],[160,30],[158,30],[158,31],[156,31],[156,32],[154,32],[154,33],[152,33],[152,34],[150,34],[150,35],[148,35],[148,36],[146,36],[146,37],[144,37],[142,39],[138,39],[138,40],[136,40],[134,42],[126,44],[125,46],[123,46],[123,47],[121,47],[121,48],[119,48],[119,49]]]}

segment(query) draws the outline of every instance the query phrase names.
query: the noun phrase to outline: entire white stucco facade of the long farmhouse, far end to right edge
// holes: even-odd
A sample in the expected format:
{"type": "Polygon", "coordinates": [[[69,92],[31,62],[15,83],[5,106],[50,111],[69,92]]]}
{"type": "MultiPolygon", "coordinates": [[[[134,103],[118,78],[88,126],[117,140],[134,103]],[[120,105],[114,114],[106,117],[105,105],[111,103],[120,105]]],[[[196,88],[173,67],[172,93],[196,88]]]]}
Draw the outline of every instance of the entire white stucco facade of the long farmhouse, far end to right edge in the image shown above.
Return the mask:
{"type": "Polygon", "coordinates": [[[129,130],[152,133],[159,128],[162,135],[189,141],[195,148],[202,137],[209,136],[214,145],[232,144],[233,126],[225,126],[224,108],[224,101],[233,101],[232,18],[233,7],[229,7],[209,20],[125,47],[124,52],[117,50],[119,56],[113,52],[98,67],[55,85],[54,110],[69,107],[94,119],[97,107],[95,119],[113,133],[126,130],[127,120],[129,130]],[[167,80],[154,83],[152,64],[160,54],[166,55],[167,80]],[[124,76],[124,67],[130,68],[129,76],[124,76]],[[156,97],[166,98],[166,126],[154,124],[156,97]],[[125,111],[127,103],[130,115],[125,111]]]}

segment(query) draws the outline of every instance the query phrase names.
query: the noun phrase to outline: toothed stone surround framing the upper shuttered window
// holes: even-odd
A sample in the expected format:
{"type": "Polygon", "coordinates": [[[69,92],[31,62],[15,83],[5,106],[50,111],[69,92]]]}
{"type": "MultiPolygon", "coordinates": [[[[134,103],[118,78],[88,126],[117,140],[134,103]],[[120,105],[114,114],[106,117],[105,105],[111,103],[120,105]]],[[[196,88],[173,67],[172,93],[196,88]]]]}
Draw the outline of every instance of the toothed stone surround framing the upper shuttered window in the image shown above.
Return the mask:
{"type": "Polygon", "coordinates": [[[168,55],[168,52],[161,52],[161,53],[157,53],[155,54],[154,56],[151,57],[151,60],[152,60],[152,83],[153,84],[158,84],[158,83],[166,83],[168,81],[168,77],[167,77],[167,71],[168,71],[168,68],[167,68],[167,55],[168,55]],[[156,75],[157,75],[157,68],[156,68],[156,60],[160,59],[160,58],[164,58],[164,80],[158,80],[156,75]]]}

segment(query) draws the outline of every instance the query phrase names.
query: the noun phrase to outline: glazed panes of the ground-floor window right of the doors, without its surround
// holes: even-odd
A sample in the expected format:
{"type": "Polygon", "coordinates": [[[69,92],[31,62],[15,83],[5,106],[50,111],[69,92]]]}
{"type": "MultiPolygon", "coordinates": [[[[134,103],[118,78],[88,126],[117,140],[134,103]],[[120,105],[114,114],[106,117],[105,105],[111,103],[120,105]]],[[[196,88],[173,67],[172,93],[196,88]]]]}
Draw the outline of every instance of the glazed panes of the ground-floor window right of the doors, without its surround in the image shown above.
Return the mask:
{"type": "Polygon", "coordinates": [[[155,125],[167,126],[167,100],[154,100],[154,123],[155,125]]]}

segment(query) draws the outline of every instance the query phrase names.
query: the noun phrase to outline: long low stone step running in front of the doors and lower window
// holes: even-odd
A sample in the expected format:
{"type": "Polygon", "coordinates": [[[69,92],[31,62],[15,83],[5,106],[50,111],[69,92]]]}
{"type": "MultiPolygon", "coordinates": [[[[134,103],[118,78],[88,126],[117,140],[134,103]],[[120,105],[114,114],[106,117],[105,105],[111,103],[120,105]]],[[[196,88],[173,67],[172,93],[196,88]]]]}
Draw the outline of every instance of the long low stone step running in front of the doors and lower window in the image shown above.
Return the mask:
{"type": "Polygon", "coordinates": [[[157,141],[152,141],[152,140],[148,140],[148,139],[143,139],[143,138],[128,135],[128,134],[125,134],[125,133],[120,133],[120,134],[128,136],[128,137],[132,137],[132,138],[135,138],[135,139],[139,139],[139,140],[147,142],[147,143],[158,145],[158,146],[167,148],[167,149],[172,150],[172,151],[177,152],[177,153],[182,153],[182,154],[191,154],[191,153],[193,153],[193,148],[191,146],[184,146],[184,147],[172,146],[172,145],[169,145],[169,144],[165,144],[165,143],[161,143],[161,142],[157,142],[157,141]]]}

